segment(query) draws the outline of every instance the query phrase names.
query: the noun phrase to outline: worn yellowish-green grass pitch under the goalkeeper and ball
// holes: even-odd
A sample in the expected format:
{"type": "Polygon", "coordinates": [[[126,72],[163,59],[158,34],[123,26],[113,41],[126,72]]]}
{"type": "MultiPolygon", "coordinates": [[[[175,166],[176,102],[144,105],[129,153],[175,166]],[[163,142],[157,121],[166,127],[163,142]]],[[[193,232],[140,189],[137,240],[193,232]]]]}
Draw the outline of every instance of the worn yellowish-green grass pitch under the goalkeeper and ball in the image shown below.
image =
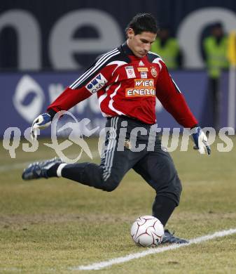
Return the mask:
{"type": "MultiPolygon", "coordinates": [[[[26,162],[55,156],[43,141],[34,153],[20,146],[15,159],[1,143],[0,273],[236,273],[235,234],[101,270],[69,270],[145,250],[132,242],[130,226],[151,214],[155,193],[134,171],[112,193],[64,178],[22,181],[26,162]]],[[[97,139],[88,143],[97,150],[97,139]]],[[[236,228],[236,149],[218,152],[217,143],[210,157],[190,145],[188,152],[171,153],[183,193],[167,228],[180,237],[236,228]]],[[[78,150],[72,145],[66,153],[78,150]]],[[[93,161],[99,163],[96,153],[93,161]]]]}

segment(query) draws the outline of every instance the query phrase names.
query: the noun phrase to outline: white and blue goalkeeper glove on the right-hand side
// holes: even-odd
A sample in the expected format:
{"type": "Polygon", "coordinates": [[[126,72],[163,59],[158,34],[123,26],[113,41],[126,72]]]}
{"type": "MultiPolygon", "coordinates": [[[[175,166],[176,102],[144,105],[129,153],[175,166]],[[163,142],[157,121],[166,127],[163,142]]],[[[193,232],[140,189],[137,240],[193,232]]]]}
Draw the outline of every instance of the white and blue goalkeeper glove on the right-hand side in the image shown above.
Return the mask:
{"type": "Polygon", "coordinates": [[[195,143],[194,149],[198,150],[201,154],[204,154],[207,152],[208,155],[211,154],[211,148],[209,144],[207,143],[207,136],[202,131],[200,126],[195,126],[193,129],[191,129],[191,134],[193,141],[195,143]]]}

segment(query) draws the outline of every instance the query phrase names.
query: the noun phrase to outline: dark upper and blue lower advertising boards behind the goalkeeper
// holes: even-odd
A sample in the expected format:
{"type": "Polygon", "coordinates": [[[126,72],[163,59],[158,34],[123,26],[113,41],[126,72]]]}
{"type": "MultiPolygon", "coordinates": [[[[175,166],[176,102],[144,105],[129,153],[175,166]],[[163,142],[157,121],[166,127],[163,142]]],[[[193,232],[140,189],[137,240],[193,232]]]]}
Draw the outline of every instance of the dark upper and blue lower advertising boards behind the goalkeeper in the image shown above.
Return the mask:
{"type": "MultiPolygon", "coordinates": [[[[4,1],[0,9],[0,136],[8,126],[21,131],[44,112],[65,86],[71,84],[98,56],[125,40],[124,29],[138,12],[151,12],[168,24],[184,55],[181,71],[172,77],[186,96],[201,126],[211,126],[211,100],[201,41],[207,27],[221,21],[226,32],[236,29],[235,1],[4,1]],[[9,112],[11,110],[11,112],[9,112]]],[[[228,125],[228,72],[221,81],[221,127],[228,125]]],[[[158,126],[178,124],[158,104],[158,126]]],[[[96,95],[72,113],[101,126],[96,95]]],[[[48,135],[50,131],[41,134],[48,135]]]]}

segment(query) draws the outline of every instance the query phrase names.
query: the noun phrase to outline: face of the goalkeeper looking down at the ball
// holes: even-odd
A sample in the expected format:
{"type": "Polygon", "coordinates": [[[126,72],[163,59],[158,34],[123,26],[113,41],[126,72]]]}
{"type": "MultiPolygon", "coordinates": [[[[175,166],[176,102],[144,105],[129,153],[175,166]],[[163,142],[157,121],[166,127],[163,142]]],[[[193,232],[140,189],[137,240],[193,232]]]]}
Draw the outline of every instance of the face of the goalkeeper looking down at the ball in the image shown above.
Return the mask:
{"type": "Polygon", "coordinates": [[[150,51],[151,44],[155,41],[156,34],[152,32],[141,32],[134,35],[134,30],[127,30],[127,45],[135,56],[142,58],[150,51]]]}

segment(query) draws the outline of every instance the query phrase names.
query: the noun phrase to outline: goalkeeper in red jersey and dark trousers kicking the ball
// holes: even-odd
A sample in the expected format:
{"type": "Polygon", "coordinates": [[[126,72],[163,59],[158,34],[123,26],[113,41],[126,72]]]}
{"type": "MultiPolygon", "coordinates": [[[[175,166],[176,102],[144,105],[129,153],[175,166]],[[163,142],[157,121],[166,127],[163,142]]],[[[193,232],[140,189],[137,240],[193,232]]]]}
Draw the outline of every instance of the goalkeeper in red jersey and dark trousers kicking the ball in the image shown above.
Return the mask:
{"type": "MultiPolygon", "coordinates": [[[[64,177],[105,191],[115,190],[123,176],[134,169],[155,190],[153,216],[166,225],[174,208],[179,205],[181,181],[169,153],[162,150],[160,137],[155,135],[153,150],[148,150],[151,126],[156,122],[155,98],[181,126],[192,129],[195,148],[210,154],[207,137],[190,112],[178,86],[170,77],[163,60],[150,47],[158,26],[149,13],[137,14],[127,26],[127,41],[113,51],[97,58],[81,77],[48,106],[32,125],[37,129],[50,126],[55,114],[97,93],[102,115],[106,117],[105,149],[101,164],[90,162],[67,164],[61,159],[30,164],[22,174],[24,180],[64,177]],[[123,149],[118,149],[120,129],[127,129],[123,149]],[[132,133],[137,129],[136,145],[132,148],[132,133]]],[[[163,243],[186,243],[165,230],[163,243]]]]}

